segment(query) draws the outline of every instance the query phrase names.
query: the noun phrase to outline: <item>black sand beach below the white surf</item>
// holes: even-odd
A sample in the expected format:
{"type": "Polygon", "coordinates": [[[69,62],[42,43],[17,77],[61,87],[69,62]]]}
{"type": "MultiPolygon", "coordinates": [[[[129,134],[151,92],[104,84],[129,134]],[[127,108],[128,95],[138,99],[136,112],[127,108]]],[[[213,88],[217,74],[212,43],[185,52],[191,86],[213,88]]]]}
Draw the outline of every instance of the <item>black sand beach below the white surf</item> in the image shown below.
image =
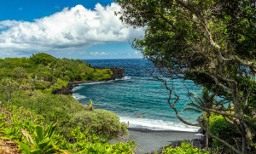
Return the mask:
{"type": "Polygon", "coordinates": [[[130,137],[124,136],[118,140],[111,140],[110,143],[119,141],[127,142],[136,140],[138,146],[137,153],[153,153],[160,151],[164,146],[170,145],[177,140],[196,139],[195,132],[183,132],[172,130],[150,130],[143,128],[128,128],[130,137]]]}

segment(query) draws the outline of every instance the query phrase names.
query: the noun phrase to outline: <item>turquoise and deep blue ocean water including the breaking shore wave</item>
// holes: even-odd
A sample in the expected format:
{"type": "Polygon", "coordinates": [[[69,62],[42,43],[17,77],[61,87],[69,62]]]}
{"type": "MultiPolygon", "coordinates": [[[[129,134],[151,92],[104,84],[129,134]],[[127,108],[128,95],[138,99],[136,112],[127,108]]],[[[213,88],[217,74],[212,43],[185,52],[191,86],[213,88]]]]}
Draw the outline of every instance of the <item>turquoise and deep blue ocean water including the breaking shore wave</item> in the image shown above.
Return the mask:
{"type": "MultiPolygon", "coordinates": [[[[73,97],[82,104],[89,105],[90,100],[97,108],[113,111],[121,122],[129,121],[133,128],[172,129],[180,131],[196,131],[180,122],[175,112],[168,106],[168,91],[163,83],[150,77],[147,60],[85,60],[91,66],[119,67],[125,69],[125,78],[101,82],[83,83],[73,89],[73,97]],[[137,118],[137,114],[145,117],[137,118]]],[[[185,81],[190,92],[200,94],[200,88],[192,81],[185,81]]],[[[175,94],[180,96],[176,107],[178,111],[190,100],[186,96],[187,89],[182,81],[176,80],[175,94]]],[[[199,114],[191,112],[180,113],[189,122],[196,122],[199,114]]]]}

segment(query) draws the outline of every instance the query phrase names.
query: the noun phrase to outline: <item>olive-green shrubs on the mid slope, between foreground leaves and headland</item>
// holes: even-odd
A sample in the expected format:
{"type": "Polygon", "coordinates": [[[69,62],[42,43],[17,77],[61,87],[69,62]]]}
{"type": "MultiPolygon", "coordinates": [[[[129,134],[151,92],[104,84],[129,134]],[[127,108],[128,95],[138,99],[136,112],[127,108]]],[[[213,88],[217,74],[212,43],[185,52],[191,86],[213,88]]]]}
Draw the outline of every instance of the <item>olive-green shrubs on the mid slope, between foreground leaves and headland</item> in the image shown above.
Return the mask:
{"type": "Polygon", "coordinates": [[[89,111],[89,107],[81,105],[71,95],[42,94],[38,91],[26,100],[14,99],[11,105],[36,110],[44,117],[46,124],[59,119],[58,133],[68,141],[73,141],[71,131],[79,126],[82,132],[89,130],[90,134],[100,135],[106,140],[117,137],[119,133],[128,133],[126,124],[120,123],[117,115],[104,110],[89,111]]]}

